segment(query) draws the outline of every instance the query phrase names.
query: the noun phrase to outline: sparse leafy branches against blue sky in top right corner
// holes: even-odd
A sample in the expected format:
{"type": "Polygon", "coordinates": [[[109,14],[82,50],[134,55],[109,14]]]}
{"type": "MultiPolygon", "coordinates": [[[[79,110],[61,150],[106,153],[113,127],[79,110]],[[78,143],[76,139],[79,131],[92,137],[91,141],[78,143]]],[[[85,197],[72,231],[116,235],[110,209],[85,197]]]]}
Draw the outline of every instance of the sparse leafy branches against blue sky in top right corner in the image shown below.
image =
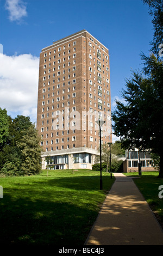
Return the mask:
{"type": "Polygon", "coordinates": [[[153,17],[154,34],[151,50],[158,56],[158,47],[163,44],[163,3],[162,0],[143,0],[143,3],[149,6],[149,14],[153,17]]]}

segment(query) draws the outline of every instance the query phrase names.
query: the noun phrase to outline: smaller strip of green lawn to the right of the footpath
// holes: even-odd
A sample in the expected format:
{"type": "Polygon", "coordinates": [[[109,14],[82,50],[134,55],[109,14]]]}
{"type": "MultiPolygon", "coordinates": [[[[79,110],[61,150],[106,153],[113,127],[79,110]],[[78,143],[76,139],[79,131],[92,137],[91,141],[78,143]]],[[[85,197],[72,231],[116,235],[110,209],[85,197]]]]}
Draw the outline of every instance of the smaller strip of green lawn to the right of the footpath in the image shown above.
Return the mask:
{"type": "Polygon", "coordinates": [[[139,176],[138,173],[124,174],[127,176],[139,177],[138,179],[133,179],[133,181],[163,228],[163,198],[159,198],[158,196],[160,192],[159,186],[163,185],[163,179],[157,178],[159,172],[142,172],[141,176],[139,176]]]}

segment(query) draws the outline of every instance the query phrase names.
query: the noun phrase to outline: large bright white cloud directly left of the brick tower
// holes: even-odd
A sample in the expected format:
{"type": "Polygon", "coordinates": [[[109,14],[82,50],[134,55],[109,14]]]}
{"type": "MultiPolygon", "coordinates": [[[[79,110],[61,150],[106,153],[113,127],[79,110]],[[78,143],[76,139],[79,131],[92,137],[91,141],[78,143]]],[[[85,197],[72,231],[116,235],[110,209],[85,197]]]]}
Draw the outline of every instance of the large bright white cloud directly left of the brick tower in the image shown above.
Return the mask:
{"type": "Polygon", "coordinates": [[[0,54],[0,107],[36,121],[39,58],[0,54]]]}

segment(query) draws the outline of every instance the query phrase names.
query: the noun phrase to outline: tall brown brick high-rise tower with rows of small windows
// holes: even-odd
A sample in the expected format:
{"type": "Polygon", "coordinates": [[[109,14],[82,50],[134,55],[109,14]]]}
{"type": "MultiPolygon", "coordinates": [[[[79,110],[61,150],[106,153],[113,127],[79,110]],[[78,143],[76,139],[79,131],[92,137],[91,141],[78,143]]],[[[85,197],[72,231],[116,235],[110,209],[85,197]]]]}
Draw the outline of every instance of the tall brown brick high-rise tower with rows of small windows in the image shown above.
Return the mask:
{"type": "Polygon", "coordinates": [[[83,30],[53,42],[40,53],[37,130],[42,168],[87,168],[102,143],[111,142],[109,51],[83,30]]]}

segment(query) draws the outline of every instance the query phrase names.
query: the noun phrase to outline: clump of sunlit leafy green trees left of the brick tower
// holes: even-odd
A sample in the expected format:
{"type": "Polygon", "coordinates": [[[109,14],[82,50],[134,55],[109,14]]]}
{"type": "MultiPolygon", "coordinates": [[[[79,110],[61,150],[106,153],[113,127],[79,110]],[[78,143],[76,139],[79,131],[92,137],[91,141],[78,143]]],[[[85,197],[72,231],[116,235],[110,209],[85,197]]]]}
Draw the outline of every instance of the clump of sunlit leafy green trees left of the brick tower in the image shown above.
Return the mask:
{"type": "Polygon", "coordinates": [[[29,117],[11,119],[0,109],[0,173],[31,175],[41,170],[40,137],[29,117]]]}

